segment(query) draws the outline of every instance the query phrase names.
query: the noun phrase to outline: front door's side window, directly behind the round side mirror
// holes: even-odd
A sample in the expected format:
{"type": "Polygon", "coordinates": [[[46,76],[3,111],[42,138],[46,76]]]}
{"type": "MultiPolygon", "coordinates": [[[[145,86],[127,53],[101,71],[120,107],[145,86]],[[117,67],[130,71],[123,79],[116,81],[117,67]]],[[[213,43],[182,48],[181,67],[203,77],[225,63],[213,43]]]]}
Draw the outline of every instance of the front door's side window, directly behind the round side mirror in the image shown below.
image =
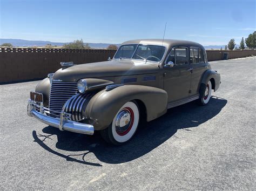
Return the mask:
{"type": "Polygon", "coordinates": [[[176,47],[173,48],[167,58],[166,63],[173,62],[175,65],[188,64],[187,48],[176,47]]]}

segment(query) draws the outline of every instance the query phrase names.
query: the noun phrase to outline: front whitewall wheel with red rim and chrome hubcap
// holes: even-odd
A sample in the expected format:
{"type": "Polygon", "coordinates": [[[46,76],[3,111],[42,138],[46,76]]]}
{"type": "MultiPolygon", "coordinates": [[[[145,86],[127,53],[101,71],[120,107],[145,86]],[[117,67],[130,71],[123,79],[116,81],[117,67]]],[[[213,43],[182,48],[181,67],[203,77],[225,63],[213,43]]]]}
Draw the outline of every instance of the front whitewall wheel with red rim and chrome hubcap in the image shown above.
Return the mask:
{"type": "Polygon", "coordinates": [[[117,112],[112,124],[100,131],[100,134],[106,142],[122,145],[133,137],[138,124],[139,108],[136,103],[129,101],[117,112]]]}

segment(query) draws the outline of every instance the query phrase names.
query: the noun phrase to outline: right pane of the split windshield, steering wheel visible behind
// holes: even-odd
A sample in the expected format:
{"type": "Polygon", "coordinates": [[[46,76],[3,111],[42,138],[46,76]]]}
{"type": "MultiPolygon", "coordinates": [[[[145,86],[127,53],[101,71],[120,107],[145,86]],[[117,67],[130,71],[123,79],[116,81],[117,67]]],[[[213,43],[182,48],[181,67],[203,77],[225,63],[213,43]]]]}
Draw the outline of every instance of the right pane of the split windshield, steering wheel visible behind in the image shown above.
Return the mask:
{"type": "Polygon", "coordinates": [[[156,45],[139,45],[133,59],[160,62],[165,53],[165,47],[156,45]]]}

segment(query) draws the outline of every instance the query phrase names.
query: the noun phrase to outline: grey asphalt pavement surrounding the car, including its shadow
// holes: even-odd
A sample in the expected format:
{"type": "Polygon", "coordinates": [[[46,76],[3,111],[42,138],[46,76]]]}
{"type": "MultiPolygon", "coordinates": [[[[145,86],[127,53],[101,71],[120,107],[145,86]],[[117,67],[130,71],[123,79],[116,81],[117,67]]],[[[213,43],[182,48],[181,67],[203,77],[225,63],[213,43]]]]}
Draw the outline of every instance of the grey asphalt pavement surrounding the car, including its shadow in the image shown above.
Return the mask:
{"type": "Polygon", "coordinates": [[[0,85],[0,189],[255,189],[256,57],[210,62],[207,106],[170,109],[123,146],[26,115],[38,81],[0,85]]]}

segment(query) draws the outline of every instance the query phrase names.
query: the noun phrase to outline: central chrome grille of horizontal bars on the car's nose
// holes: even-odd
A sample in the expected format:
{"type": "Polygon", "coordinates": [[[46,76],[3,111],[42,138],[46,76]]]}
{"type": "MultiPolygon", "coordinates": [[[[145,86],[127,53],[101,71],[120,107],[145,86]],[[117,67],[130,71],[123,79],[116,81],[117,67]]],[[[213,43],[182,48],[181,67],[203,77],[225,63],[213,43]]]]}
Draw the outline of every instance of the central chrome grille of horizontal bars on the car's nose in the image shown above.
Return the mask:
{"type": "Polygon", "coordinates": [[[76,82],[52,81],[49,99],[49,115],[60,117],[60,112],[65,102],[77,93],[76,82]]]}

